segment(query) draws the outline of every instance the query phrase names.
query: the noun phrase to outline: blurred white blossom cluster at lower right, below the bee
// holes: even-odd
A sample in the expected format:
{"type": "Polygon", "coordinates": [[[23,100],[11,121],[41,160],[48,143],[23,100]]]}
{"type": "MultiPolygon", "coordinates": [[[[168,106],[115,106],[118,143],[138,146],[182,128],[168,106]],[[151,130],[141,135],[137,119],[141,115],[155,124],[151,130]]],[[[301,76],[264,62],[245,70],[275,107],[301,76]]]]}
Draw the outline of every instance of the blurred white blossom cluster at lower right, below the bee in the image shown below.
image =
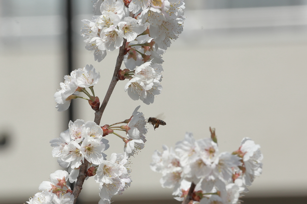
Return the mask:
{"type": "Polygon", "coordinates": [[[244,138],[239,150],[219,154],[214,130],[212,133],[214,137],[199,140],[187,133],[174,150],[163,146],[163,152],[154,152],[151,169],[162,173],[160,183],[174,188],[175,199],[183,201],[193,183],[194,202],[239,203],[240,193],[247,192],[255,176],[260,176],[263,156],[259,145],[244,138]]]}

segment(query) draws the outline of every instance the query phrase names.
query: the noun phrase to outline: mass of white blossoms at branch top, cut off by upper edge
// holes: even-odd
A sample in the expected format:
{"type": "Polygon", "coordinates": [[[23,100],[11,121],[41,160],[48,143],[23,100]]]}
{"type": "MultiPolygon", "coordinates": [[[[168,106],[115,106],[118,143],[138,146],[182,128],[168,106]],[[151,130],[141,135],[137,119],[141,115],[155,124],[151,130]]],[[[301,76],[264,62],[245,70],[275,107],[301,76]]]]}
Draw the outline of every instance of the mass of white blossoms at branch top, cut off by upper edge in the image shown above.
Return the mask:
{"type": "Polygon", "coordinates": [[[100,62],[126,39],[124,63],[133,71],[124,73],[122,80],[130,80],[125,91],[133,100],[153,103],[162,90],[161,55],[183,30],[184,5],[178,0],[98,0],[95,16],[82,20],[85,48],[100,62]]]}

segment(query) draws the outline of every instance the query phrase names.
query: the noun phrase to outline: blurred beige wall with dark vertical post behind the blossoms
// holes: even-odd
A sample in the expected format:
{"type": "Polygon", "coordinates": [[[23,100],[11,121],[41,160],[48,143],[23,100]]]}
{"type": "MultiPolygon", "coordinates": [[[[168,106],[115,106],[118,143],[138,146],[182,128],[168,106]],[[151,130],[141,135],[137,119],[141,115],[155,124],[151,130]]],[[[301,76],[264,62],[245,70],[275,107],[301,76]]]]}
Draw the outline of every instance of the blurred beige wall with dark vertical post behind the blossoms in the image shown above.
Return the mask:
{"type": "MultiPolygon", "coordinates": [[[[0,0],[0,203],[23,203],[60,169],[49,141],[72,120],[94,120],[85,100],[73,114],[58,112],[53,95],[73,69],[92,64],[101,74],[95,94],[103,99],[118,50],[100,63],[85,50],[81,20],[91,19],[91,0],[72,1],[72,60],[68,59],[68,8],[63,0],[0,0]]],[[[243,137],[261,145],[263,173],[245,203],[307,203],[307,1],[189,0],[184,32],[163,55],[163,91],[151,105],[133,101],[119,81],[101,125],[164,112],[167,125],[148,125],[145,148],[131,158],[132,185],[115,203],[179,203],[150,170],[151,155],[193,132],[216,128],[220,151],[243,137]],[[122,107],[123,108],[122,110],[122,107]]],[[[107,136],[112,152],[123,144],[107,136]]],[[[97,203],[88,179],[79,203],[97,203]]]]}

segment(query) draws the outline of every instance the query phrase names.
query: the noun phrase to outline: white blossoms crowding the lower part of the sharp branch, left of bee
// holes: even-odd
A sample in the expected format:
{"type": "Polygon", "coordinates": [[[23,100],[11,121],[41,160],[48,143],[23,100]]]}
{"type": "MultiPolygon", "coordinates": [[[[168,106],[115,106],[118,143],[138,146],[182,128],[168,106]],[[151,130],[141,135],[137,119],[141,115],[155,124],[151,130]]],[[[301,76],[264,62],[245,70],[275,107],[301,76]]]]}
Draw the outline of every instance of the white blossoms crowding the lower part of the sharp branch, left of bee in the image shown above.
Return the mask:
{"type": "MultiPolygon", "coordinates": [[[[100,127],[93,121],[85,122],[79,119],[74,122],[70,121],[68,129],[62,132],[59,138],[50,141],[53,147],[52,156],[57,158],[61,167],[68,167],[69,173],[58,170],[51,174],[51,182],[42,182],[39,187],[42,192],[30,199],[29,202],[31,203],[29,204],[34,204],[37,196],[45,196],[46,199],[49,199],[49,197],[50,199],[51,197],[52,199],[53,197],[54,199],[64,199],[65,202],[71,204],[69,199],[73,198],[73,195],[68,194],[72,191],[66,185],[66,181],[69,179],[71,183],[76,182],[80,166],[85,160],[89,162],[86,175],[94,176],[94,180],[99,183],[101,198],[99,203],[110,203],[113,195],[122,194],[131,183],[128,158],[143,149],[146,142],[144,136],[147,132],[146,121],[143,113],[138,112],[139,108],[140,106],[134,110],[129,119],[115,123],[126,123],[122,126],[112,124],[100,127]],[[126,137],[114,132],[117,130],[125,132],[126,137]],[[107,160],[107,155],[103,151],[108,149],[109,141],[103,137],[109,134],[117,135],[124,141],[124,152],[122,154],[113,153],[107,160]],[[67,191],[67,195],[64,194],[64,191],[67,191]],[[58,198],[55,198],[55,195],[49,192],[55,194],[58,198]]],[[[52,199],[50,203],[65,203],[52,199]]],[[[46,201],[46,204],[49,204],[49,200],[46,201]]]]}

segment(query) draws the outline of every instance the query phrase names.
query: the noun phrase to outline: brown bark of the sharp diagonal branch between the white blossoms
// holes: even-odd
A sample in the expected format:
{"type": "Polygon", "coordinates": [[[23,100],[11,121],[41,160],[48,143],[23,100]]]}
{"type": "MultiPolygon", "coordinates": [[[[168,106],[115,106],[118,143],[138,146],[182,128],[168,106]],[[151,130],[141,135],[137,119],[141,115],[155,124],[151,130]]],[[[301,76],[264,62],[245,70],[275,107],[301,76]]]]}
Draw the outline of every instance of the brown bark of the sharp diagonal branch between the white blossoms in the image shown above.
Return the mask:
{"type": "MultiPolygon", "coordinates": [[[[130,12],[130,17],[134,17],[134,14],[132,12],[130,12]]],[[[114,90],[114,87],[115,87],[117,81],[119,80],[118,77],[117,77],[117,74],[119,72],[120,67],[122,66],[122,61],[124,60],[124,52],[125,52],[126,42],[127,42],[127,40],[124,39],[122,46],[119,48],[119,54],[118,54],[118,57],[117,57],[117,60],[116,60],[116,65],[115,65],[115,69],[114,69],[114,73],[113,73],[111,83],[109,85],[109,88],[108,88],[107,93],[106,93],[106,95],[103,99],[103,102],[100,106],[99,111],[95,113],[94,122],[97,125],[100,124],[100,120],[101,120],[103,111],[108,104],[108,101],[111,97],[111,94],[114,90]]],[[[74,204],[76,204],[76,202],[77,202],[77,198],[78,198],[78,196],[79,196],[79,194],[82,190],[84,180],[87,177],[86,174],[85,174],[87,172],[87,167],[88,167],[88,161],[86,159],[84,159],[84,163],[80,166],[79,176],[77,177],[76,185],[75,185],[74,190],[73,190],[73,195],[75,196],[74,204]]]]}

